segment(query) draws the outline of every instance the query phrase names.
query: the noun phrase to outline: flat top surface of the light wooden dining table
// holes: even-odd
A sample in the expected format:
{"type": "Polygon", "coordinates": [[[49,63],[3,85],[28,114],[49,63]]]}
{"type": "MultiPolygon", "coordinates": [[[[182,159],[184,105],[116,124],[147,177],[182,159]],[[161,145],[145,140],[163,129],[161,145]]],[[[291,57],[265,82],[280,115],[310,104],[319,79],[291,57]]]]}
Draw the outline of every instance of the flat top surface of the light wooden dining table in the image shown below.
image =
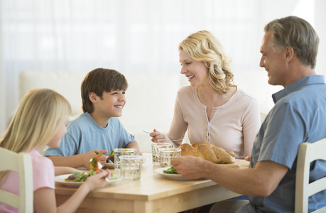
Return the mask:
{"type": "MultiPolygon", "coordinates": [[[[200,180],[175,180],[166,178],[163,175],[154,172],[160,166],[153,166],[151,161],[151,153],[143,153],[144,157],[149,158],[146,163],[143,163],[141,169],[141,179],[130,181],[130,180],[120,180],[119,182],[108,185],[97,190],[89,192],[87,198],[92,198],[99,200],[124,200],[131,202],[141,202],[145,206],[148,203],[158,200],[164,200],[167,197],[174,197],[183,194],[194,192],[196,190],[210,189],[212,186],[217,185],[216,182],[207,179],[200,180]]],[[[248,168],[249,162],[245,160],[236,160],[236,163],[240,164],[240,168],[248,168]]],[[[114,173],[114,169],[110,170],[114,173]]],[[[219,186],[221,187],[221,186],[219,186]]],[[[225,193],[225,189],[224,193],[225,193]]],[[[60,183],[55,184],[55,194],[60,200],[60,196],[67,197],[71,196],[75,192],[76,188],[67,187],[61,185],[60,183]]],[[[229,191],[229,190],[227,190],[229,191]]],[[[231,191],[229,191],[231,192],[231,191]]],[[[218,192],[216,192],[218,193],[218,192]]],[[[237,197],[239,194],[232,192],[232,195],[227,195],[229,197],[237,197]]],[[[224,197],[222,197],[222,200],[224,197]]],[[[209,201],[207,201],[209,202],[209,201]]],[[[185,208],[185,207],[183,207],[185,208]]],[[[176,208],[178,209],[178,208],[176,208]]],[[[145,210],[144,210],[145,211],[145,210]]],[[[149,212],[153,209],[145,211],[149,212]]],[[[135,211],[131,211],[135,212],[135,211]]]]}

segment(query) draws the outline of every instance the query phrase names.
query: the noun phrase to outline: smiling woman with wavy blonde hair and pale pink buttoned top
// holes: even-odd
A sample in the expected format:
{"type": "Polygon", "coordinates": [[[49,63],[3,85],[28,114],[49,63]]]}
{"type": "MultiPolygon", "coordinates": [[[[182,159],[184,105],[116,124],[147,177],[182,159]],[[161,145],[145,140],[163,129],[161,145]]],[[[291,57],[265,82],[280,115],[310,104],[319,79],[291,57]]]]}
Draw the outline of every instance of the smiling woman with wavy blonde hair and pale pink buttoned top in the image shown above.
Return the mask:
{"type": "Polygon", "coordinates": [[[231,60],[219,40],[208,31],[193,33],[180,43],[179,57],[181,74],[191,86],[178,91],[167,137],[154,129],[152,141],[172,139],[180,146],[188,131],[190,143],[207,141],[234,151],[236,158],[250,155],[260,126],[259,107],[234,84],[231,60]]]}

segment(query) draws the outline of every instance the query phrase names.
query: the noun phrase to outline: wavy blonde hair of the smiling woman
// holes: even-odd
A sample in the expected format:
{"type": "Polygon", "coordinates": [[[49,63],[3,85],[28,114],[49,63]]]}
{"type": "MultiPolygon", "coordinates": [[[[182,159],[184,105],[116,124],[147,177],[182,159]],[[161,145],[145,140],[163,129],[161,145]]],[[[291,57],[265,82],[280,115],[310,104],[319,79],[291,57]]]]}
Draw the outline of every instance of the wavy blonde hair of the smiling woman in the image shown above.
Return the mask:
{"type": "Polygon", "coordinates": [[[192,60],[204,62],[208,67],[208,80],[218,94],[225,94],[229,87],[235,87],[231,72],[231,59],[224,53],[219,40],[209,31],[198,31],[179,44],[192,60]]]}

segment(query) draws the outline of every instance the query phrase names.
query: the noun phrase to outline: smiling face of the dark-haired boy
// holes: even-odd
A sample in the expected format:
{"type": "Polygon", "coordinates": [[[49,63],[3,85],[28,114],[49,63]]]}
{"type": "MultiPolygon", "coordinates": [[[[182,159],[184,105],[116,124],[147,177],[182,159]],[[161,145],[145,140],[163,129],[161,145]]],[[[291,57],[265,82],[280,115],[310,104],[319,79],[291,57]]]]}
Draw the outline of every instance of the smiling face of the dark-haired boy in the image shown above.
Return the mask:
{"type": "Polygon", "coordinates": [[[124,90],[103,92],[102,99],[97,97],[94,111],[97,111],[97,114],[102,114],[104,117],[109,116],[109,118],[121,116],[124,104],[126,104],[125,93],[124,90]]]}

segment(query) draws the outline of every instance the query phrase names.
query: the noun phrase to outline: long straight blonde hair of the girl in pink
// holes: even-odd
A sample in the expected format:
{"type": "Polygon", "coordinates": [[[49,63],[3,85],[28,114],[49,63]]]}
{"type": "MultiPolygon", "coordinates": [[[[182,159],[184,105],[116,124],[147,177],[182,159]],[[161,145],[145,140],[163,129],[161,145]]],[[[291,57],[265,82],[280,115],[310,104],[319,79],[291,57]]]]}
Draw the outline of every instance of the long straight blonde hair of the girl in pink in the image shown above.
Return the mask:
{"type": "MultiPolygon", "coordinates": [[[[58,127],[71,114],[70,104],[51,89],[32,89],[21,100],[0,147],[16,153],[48,144],[58,127]]],[[[4,178],[0,174],[0,180],[4,178]]]]}

